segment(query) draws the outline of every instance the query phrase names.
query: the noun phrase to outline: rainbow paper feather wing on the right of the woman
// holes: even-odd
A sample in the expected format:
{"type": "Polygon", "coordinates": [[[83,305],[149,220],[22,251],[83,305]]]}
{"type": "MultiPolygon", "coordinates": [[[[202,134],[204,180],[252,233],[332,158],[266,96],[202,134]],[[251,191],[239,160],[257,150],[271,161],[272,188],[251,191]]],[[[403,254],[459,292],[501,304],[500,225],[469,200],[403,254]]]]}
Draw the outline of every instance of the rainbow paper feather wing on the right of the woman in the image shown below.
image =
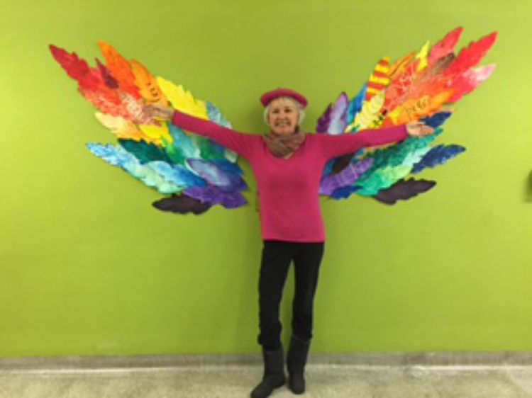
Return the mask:
{"type": "Polygon", "coordinates": [[[453,104],[495,69],[494,64],[477,65],[494,45],[497,33],[472,42],[456,55],[455,46],[461,34],[462,28],[457,28],[430,51],[427,42],[419,52],[411,52],[393,63],[384,57],[357,96],[348,98],[345,92],[341,93],[326,108],[318,120],[318,133],[356,133],[416,121],[434,127],[435,133],[329,161],[321,181],[322,195],[340,199],[357,193],[394,204],[436,185],[435,181],[405,178],[426,167],[444,164],[465,151],[456,144],[431,145],[443,132],[442,125],[452,114],[453,104]]]}

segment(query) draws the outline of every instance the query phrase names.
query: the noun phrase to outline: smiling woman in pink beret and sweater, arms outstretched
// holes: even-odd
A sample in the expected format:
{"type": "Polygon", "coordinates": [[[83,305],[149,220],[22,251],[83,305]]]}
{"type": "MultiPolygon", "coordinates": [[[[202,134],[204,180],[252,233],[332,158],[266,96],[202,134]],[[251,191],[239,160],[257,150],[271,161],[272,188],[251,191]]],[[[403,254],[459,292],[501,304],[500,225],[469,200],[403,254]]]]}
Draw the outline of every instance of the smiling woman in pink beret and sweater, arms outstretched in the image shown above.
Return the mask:
{"type": "Polygon", "coordinates": [[[271,130],[263,137],[236,132],[170,108],[148,107],[152,115],[171,119],[174,125],[209,137],[245,157],[257,179],[264,241],[258,342],[262,346],[264,375],[251,392],[253,398],[268,397],[285,382],[279,303],[292,261],[295,292],[292,338],[287,353],[288,384],[295,394],[305,390],[304,368],[312,338],[314,293],[325,242],[318,189],[326,162],[362,147],[433,132],[431,127],[412,123],[357,134],[306,135],[299,127],[307,106],[306,98],[300,93],[276,89],[265,93],[260,101],[265,106],[265,121],[271,130]]]}

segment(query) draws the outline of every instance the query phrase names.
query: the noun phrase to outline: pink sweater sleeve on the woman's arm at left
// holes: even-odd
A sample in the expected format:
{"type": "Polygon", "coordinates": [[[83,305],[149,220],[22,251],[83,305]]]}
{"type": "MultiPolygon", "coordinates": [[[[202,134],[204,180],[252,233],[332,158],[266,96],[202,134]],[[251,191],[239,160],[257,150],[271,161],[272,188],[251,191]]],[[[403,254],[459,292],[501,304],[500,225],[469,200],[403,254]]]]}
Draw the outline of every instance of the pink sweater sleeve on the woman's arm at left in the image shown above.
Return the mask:
{"type": "Polygon", "coordinates": [[[181,127],[183,130],[209,137],[211,140],[216,141],[223,147],[232,149],[246,159],[249,159],[253,153],[257,140],[262,140],[257,135],[243,134],[242,132],[217,125],[210,120],[195,118],[178,110],[172,116],[172,124],[181,127]]]}

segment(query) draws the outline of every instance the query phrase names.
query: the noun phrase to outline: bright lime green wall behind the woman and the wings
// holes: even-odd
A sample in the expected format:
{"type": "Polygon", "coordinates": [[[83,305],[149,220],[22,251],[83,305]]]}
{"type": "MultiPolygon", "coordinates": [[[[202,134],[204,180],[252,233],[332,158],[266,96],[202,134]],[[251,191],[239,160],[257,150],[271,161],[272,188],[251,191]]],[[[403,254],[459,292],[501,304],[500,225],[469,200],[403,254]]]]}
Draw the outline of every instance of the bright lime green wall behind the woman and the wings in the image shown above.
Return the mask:
{"type": "MultiPolygon", "coordinates": [[[[384,55],[498,30],[498,69],[443,140],[468,151],[408,203],[323,200],[314,352],[532,350],[532,4],[505,1],[21,1],[0,6],[0,356],[246,353],[261,249],[252,205],[179,217],[94,157],[111,142],[48,44],[115,45],[260,132],[257,98],[308,96],[307,130],[384,55]],[[527,243],[528,242],[528,243],[527,243]]],[[[241,161],[248,181],[253,174],[241,161]]],[[[284,302],[289,319],[289,295],[284,302]]]]}

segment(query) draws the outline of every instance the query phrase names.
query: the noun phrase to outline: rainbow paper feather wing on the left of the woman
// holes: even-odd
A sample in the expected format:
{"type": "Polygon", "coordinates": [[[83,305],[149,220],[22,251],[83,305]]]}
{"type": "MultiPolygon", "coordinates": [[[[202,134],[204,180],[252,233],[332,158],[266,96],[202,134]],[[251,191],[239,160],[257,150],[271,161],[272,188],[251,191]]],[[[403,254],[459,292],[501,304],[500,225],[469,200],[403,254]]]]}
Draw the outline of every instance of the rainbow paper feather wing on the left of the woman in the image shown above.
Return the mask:
{"type": "Polygon", "coordinates": [[[96,68],[84,59],[50,45],[53,57],[79,92],[99,112],[96,118],[116,135],[118,144],[87,144],[96,156],[119,166],[145,185],[171,195],[153,203],[163,211],[200,214],[212,205],[245,205],[248,189],[237,156],[199,135],[188,135],[172,123],[161,123],[143,112],[146,103],[172,106],[199,118],[231,127],[214,104],[197,100],[182,86],[155,77],[140,62],[128,61],[100,42],[106,64],[96,68]]]}

